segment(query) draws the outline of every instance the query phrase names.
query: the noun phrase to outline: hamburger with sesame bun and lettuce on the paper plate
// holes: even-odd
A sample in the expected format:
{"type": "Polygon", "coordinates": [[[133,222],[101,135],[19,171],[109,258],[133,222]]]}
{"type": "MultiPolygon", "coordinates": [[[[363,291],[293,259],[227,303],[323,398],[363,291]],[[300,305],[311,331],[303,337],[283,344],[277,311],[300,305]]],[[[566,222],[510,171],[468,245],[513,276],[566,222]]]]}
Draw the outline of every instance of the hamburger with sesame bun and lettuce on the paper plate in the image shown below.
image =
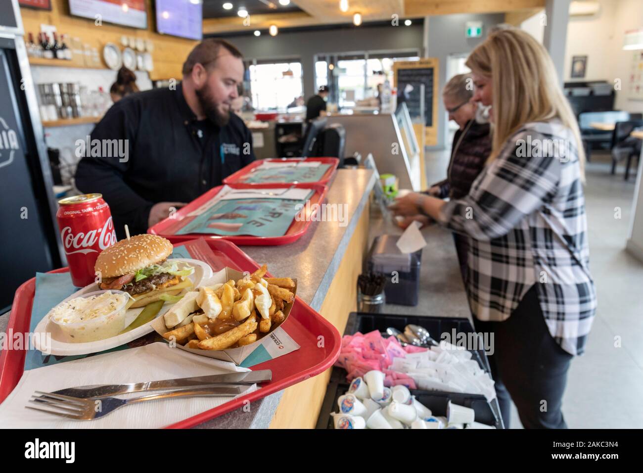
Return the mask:
{"type": "Polygon", "coordinates": [[[136,235],[105,248],[96,259],[94,270],[99,272],[101,289],[129,293],[134,302],[130,307],[143,307],[159,300],[171,300],[192,286],[187,278],[194,272],[191,266],[179,268],[168,260],[172,243],[156,235],[136,235]]]}

